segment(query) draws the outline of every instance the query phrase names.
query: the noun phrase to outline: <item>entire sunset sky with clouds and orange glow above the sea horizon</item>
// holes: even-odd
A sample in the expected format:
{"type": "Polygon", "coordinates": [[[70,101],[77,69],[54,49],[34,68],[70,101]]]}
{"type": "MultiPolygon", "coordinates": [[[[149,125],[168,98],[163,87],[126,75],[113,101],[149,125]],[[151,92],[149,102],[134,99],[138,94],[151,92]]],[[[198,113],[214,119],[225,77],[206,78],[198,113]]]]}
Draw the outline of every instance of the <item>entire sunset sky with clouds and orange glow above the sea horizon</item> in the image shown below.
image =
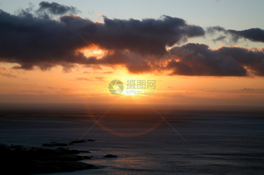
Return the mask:
{"type": "Polygon", "coordinates": [[[263,6],[0,1],[0,102],[264,105],[263,6]]]}

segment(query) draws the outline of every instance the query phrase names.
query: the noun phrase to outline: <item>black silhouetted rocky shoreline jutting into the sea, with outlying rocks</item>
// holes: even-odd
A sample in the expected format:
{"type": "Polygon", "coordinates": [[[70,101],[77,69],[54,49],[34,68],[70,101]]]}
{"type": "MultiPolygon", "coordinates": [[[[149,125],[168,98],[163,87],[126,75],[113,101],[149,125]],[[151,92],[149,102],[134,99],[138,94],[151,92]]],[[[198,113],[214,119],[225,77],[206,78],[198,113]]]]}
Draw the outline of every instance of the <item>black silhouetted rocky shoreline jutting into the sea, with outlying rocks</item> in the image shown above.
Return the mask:
{"type": "MultiPolygon", "coordinates": [[[[80,141],[80,140],[79,140],[80,141]]],[[[74,143],[82,143],[73,141],[74,143]]],[[[51,143],[50,146],[53,146],[51,143]]],[[[43,144],[45,146],[45,144],[43,144]]],[[[64,145],[66,144],[57,144],[64,145]]],[[[68,144],[67,144],[68,146],[68,144]]],[[[93,156],[80,156],[76,154],[91,153],[90,151],[65,149],[65,148],[34,148],[20,145],[0,145],[2,172],[7,170],[8,174],[32,175],[37,173],[58,173],[72,172],[76,170],[96,169],[97,166],[84,162],[77,162],[90,159],[93,156]]],[[[106,158],[117,157],[106,155],[106,158]]]]}

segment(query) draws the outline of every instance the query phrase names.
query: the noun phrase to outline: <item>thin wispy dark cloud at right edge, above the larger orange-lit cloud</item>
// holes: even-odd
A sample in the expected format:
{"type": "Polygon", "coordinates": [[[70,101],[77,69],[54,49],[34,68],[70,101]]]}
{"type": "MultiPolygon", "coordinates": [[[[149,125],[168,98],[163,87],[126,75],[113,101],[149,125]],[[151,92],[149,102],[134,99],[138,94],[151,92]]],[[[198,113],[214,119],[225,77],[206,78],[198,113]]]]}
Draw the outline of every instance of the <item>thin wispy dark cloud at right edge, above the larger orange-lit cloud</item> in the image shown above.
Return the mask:
{"type": "MultiPolygon", "coordinates": [[[[220,26],[214,26],[214,27],[207,27],[206,30],[208,33],[214,34],[216,31],[224,32],[226,35],[231,35],[231,39],[234,42],[237,42],[239,38],[245,38],[249,39],[250,41],[253,42],[264,42],[264,30],[260,28],[250,28],[247,30],[242,30],[242,31],[236,31],[236,30],[226,30],[223,27],[220,26]]],[[[213,41],[220,41],[225,39],[226,37],[220,36],[213,41]]]]}

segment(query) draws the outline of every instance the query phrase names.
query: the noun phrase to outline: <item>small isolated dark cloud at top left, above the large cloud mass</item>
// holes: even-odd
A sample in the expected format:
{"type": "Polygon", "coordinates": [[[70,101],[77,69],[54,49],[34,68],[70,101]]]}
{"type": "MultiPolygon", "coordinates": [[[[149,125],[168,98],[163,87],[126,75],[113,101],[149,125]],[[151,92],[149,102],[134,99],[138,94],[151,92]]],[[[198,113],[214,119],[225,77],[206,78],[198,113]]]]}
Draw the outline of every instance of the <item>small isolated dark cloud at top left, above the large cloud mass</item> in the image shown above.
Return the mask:
{"type": "Polygon", "coordinates": [[[58,4],[56,2],[46,2],[42,1],[39,3],[39,9],[36,10],[37,13],[48,13],[48,14],[54,14],[54,15],[64,15],[64,14],[76,14],[79,13],[80,10],[78,10],[76,7],[73,6],[67,6],[58,4]]]}

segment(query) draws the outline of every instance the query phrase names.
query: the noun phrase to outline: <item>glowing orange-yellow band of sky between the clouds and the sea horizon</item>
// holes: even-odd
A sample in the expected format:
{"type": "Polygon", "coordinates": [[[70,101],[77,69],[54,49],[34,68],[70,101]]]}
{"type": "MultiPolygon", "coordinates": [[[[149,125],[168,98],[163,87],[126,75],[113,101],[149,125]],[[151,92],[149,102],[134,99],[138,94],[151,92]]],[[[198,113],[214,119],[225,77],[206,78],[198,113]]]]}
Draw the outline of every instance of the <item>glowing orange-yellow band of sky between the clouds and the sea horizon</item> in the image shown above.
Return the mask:
{"type": "MultiPolygon", "coordinates": [[[[149,72],[130,74],[125,67],[109,66],[101,69],[76,65],[69,73],[64,73],[61,66],[51,70],[14,70],[17,64],[2,64],[0,71],[1,102],[31,100],[37,102],[74,102],[74,103],[120,103],[133,104],[262,104],[264,82],[261,77],[207,77],[207,76],[168,76],[149,72]],[[8,74],[14,75],[8,77],[8,74]],[[16,78],[17,77],[17,78],[16,78]],[[154,94],[126,94],[126,89],[119,95],[108,90],[112,80],[120,80],[124,86],[128,80],[155,80],[154,94]],[[8,95],[9,94],[9,95],[8,95]],[[27,96],[27,98],[24,98],[27,96]],[[37,98],[36,98],[37,97],[37,98]],[[145,101],[145,100],[146,101],[145,101]],[[223,102],[221,102],[223,101],[223,102]]],[[[264,103],[263,103],[264,104],[264,103]]]]}

